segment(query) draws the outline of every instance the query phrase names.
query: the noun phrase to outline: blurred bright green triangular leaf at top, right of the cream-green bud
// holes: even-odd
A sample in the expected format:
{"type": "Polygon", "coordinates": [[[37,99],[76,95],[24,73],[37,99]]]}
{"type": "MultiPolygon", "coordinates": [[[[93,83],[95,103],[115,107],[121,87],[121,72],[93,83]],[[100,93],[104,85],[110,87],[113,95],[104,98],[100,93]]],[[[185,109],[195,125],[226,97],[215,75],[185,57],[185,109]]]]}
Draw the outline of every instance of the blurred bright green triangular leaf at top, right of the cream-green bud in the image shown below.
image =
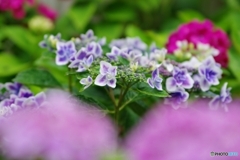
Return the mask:
{"type": "Polygon", "coordinates": [[[97,3],[89,3],[86,5],[71,8],[69,10],[68,16],[75,28],[79,31],[83,31],[92,19],[96,9],[97,3]]]}

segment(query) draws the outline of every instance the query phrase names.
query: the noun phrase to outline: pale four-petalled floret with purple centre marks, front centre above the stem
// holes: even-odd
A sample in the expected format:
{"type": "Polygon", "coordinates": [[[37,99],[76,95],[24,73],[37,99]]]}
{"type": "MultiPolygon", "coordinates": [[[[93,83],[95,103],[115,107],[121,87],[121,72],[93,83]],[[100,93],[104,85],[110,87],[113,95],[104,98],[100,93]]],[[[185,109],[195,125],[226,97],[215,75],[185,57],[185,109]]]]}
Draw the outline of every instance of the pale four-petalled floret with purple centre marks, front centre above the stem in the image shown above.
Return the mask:
{"type": "Polygon", "coordinates": [[[95,79],[95,85],[116,87],[117,66],[112,66],[110,63],[100,62],[100,74],[95,79]]]}

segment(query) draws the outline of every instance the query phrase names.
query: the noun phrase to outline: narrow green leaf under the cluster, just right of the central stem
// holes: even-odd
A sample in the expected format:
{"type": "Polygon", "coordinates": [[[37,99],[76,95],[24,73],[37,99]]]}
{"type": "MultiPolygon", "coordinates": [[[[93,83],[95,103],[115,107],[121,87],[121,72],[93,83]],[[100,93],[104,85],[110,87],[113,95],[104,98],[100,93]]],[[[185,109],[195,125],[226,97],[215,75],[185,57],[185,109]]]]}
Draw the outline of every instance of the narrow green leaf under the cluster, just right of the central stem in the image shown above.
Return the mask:
{"type": "Polygon", "coordinates": [[[139,83],[137,85],[136,91],[154,97],[168,97],[168,93],[166,91],[159,91],[157,89],[151,88],[147,83],[139,83]]]}

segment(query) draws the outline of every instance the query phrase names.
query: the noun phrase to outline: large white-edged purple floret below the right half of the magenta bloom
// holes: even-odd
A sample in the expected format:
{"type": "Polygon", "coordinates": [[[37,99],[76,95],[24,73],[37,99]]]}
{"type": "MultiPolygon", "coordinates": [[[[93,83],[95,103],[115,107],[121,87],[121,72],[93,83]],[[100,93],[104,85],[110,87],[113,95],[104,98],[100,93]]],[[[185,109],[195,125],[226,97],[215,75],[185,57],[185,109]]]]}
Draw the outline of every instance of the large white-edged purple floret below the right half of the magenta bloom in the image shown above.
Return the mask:
{"type": "Polygon", "coordinates": [[[199,75],[194,76],[194,80],[199,84],[202,91],[209,90],[211,85],[218,85],[222,70],[215,63],[213,57],[208,57],[198,68],[199,75]]]}

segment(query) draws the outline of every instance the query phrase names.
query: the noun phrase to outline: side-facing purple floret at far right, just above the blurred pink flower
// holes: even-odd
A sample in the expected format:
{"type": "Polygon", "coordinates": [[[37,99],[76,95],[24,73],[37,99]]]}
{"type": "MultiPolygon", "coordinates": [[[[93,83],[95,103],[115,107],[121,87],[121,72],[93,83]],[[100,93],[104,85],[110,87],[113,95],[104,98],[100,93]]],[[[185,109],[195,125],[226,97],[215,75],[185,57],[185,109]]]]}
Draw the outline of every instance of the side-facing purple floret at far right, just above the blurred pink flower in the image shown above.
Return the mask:
{"type": "Polygon", "coordinates": [[[216,95],[210,101],[210,107],[212,109],[217,109],[219,107],[223,107],[225,111],[228,111],[227,104],[232,102],[232,97],[230,94],[231,88],[227,88],[227,83],[224,83],[220,95],[216,95]]]}

